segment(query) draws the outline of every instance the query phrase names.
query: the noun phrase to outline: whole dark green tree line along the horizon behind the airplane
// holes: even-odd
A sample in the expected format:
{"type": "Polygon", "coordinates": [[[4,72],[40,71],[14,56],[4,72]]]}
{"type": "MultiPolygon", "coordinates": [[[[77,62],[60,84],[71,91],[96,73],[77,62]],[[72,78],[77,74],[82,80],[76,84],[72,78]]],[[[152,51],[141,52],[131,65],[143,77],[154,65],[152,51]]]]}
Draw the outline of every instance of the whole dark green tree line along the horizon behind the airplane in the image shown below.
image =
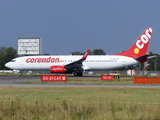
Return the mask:
{"type": "MultiPolygon", "coordinates": [[[[71,52],[72,55],[83,55],[84,52],[71,52]]],[[[49,55],[49,54],[45,54],[49,55]]],[[[106,55],[106,52],[102,49],[94,49],[93,51],[90,51],[89,55],[106,55]]],[[[149,52],[149,56],[155,56],[154,58],[148,59],[148,70],[149,71],[160,71],[160,55],[155,54],[152,52],[149,52]]],[[[0,47],[0,70],[7,70],[8,68],[5,67],[5,63],[11,61],[13,58],[18,57],[17,50],[13,47],[0,47]]],[[[141,63],[141,69],[143,69],[144,64],[141,63]]],[[[127,69],[136,69],[137,66],[130,66],[127,69]]],[[[125,70],[121,69],[121,70],[125,70]]]]}

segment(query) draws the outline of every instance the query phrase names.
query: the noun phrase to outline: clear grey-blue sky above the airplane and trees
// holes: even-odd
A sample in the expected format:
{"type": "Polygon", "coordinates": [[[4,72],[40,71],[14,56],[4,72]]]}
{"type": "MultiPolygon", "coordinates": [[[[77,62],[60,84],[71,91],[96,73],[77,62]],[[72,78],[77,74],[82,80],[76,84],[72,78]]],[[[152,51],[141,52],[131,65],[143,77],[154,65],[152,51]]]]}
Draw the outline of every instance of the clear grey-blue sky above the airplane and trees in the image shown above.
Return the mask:
{"type": "Polygon", "coordinates": [[[40,37],[42,54],[116,54],[149,27],[149,52],[160,54],[160,0],[0,0],[0,47],[40,37]]]}

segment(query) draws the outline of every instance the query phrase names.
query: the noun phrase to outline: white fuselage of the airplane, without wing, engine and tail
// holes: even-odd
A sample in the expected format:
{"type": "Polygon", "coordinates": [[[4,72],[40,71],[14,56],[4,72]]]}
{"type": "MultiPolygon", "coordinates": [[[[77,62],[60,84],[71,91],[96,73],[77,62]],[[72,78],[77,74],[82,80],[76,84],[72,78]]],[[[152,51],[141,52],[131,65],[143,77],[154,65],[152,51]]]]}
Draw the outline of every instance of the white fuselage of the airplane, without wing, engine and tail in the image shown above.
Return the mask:
{"type": "MultiPolygon", "coordinates": [[[[50,70],[51,66],[65,66],[81,59],[82,56],[24,56],[6,63],[6,67],[14,70],[50,70]]],[[[89,55],[82,62],[85,70],[112,70],[137,64],[133,58],[118,55],[89,55]]]]}

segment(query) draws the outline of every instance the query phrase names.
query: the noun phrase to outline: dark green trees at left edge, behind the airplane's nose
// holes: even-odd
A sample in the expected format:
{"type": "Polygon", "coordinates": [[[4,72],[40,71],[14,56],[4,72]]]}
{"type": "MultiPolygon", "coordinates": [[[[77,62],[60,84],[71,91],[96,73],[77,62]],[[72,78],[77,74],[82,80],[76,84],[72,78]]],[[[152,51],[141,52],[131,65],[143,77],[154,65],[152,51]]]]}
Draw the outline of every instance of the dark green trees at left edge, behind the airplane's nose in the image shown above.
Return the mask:
{"type": "Polygon", "coordinates": [[[5,63],[17,57],[17,50],[13,47],[0,47],[0,70],[6,70],[5,63]]]}

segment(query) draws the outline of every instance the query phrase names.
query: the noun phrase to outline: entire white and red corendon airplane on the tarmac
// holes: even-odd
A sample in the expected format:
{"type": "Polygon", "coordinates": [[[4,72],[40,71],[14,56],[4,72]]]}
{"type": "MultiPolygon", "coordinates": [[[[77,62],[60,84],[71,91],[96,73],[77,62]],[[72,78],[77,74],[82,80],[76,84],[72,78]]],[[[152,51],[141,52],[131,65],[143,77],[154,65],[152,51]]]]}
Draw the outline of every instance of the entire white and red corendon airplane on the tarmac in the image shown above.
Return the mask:
{"type": "Polygon", "coordinates": [[[148,45],[152,28],[146,28],[126,51],[113,55],[88,55],[88,49],[82,55],[22,56],[12,59],[5,66],[21,71],[50,71],[51,73],[82,76],[84,71],[104,71],[124,68],[148,59],[148,45]]]}

